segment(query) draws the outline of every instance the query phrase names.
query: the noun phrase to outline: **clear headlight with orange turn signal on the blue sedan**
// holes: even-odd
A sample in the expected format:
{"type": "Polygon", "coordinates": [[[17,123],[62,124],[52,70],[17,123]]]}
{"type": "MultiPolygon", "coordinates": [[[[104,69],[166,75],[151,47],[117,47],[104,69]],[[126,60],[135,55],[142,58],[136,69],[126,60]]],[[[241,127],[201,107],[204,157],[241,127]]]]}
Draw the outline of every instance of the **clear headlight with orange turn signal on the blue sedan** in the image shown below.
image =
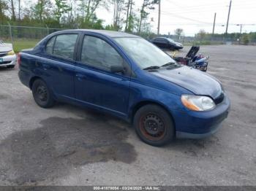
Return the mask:
{"type": "Polygon", "coordinates": [[[193,111],[206,111],[216,106],[210,97],[203,95],[181,95],[181,102],[193,111]]]}

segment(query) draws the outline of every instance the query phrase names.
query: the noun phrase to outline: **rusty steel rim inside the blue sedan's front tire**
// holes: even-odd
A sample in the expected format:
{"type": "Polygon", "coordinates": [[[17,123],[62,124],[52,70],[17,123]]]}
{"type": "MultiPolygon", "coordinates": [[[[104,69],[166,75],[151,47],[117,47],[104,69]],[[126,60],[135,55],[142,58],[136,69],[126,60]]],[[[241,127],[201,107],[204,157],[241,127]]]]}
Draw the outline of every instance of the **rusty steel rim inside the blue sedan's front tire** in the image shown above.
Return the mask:
{"type": "Polygon", "coordinates": [[[165,136],[165,124],[159,115],[145,114],[140,117],[140,132],[150,141],[159,141],[165,136]]]}

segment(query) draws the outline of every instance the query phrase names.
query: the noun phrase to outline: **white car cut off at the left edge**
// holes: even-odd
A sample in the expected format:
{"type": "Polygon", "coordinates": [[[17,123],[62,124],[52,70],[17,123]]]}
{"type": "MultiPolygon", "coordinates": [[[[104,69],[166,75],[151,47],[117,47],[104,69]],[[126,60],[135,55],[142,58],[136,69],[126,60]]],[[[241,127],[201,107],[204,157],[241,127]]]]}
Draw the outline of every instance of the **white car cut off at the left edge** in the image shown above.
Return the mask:
{"type": "Polygon", "coordinates": [[[15,63],[16,55],[12,49],[12,44],[0,40],[0,67],[14,68],[15,63]]]}

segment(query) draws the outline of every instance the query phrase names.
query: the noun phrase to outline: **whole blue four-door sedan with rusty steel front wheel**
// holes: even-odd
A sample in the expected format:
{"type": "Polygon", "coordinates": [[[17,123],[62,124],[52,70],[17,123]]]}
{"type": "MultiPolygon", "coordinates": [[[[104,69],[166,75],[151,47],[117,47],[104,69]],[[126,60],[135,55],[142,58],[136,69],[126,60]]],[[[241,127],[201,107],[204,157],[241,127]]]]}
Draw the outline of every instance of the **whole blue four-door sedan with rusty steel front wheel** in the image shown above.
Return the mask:
{"type": "Polygon", "coordinates": [[[132,34],[59,31],[20,52],[18,63],[39,106],[64,101],[108,112],[133,122],[154,146],[209,136],[230,107],[217,79],[132,34]]]}

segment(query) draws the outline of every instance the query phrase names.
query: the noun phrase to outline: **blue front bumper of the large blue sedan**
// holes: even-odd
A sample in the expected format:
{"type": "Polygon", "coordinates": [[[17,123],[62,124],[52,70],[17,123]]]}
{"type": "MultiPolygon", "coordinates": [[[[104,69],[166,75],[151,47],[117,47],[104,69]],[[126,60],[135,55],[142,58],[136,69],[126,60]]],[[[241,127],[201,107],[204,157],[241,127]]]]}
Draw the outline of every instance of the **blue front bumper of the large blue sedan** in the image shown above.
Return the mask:
{"type": "Polygon", "coordinates": [[[176,137],[201,139],[216,133],[230,110],[230,100],[225,96],[221,104],[205,112],[180,112],[176,119],[176,137]],[[178,120],[177,120],[178,119],[178,120]]]}

